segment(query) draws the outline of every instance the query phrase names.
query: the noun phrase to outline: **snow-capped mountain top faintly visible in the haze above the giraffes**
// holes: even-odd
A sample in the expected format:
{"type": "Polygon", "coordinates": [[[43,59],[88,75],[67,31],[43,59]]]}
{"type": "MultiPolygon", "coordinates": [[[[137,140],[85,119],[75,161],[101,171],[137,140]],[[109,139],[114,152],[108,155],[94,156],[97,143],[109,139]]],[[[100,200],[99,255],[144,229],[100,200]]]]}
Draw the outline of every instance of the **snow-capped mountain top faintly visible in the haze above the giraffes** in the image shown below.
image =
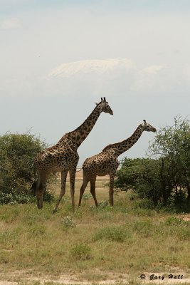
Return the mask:
{"type": "Polygon", "coordinates": [[[107,58],[107,59],[91,59],[85,61],[74,61],[63,63],[54,68],[49,76],[51,77],[69,77],[80,73],[107,73],[117,68],[131,69],[134,63],[127,58],[107,58]]]}

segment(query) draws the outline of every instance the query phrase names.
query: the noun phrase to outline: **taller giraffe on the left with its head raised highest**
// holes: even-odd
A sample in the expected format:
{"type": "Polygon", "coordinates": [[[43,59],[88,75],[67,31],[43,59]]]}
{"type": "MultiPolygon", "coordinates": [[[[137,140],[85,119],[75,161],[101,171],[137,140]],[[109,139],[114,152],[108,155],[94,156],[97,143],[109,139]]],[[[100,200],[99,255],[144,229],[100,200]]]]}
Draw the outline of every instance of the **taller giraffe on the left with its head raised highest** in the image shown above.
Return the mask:
{"type": "Polygon", "coordinates": [[[90,113],[82,125],[70,133],[65,133],[56,145],[48,147],[37,155],[34,160],[34,166],[38,174],[38,180],[36,181],[35,179],[35,182],[33,182],[31,191],[36,194],[38,209],[43,208],[43,194],[46,189],[46,182],[51,172],[61,172],[61,190],[56,207],[53,209],[53,213],[57,211],[58,204],[65,194],[65,182],[68,172],[70,174],[70,195],[74,209],[75,172],[79,160],[77,150],[93,129],[93,126],[102,112],[113,115],[112,109],[108,105],[105,97],[101,98],[100,103],[96,103],[95,109],[90,113]]]}

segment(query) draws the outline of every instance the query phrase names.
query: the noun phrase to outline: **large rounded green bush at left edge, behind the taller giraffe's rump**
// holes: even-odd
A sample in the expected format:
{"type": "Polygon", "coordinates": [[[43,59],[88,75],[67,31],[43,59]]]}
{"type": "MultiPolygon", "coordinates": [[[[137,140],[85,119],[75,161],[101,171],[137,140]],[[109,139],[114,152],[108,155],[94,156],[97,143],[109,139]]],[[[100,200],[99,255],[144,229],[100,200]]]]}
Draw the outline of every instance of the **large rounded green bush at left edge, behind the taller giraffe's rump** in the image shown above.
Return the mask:
{"type": "Polygon", "coordinates": [[[33,162],[45,147],[44,142],[30,133],[6,133],[0,137],[0,204],[34,200],[28,194],[34,178],[33,162]]]}

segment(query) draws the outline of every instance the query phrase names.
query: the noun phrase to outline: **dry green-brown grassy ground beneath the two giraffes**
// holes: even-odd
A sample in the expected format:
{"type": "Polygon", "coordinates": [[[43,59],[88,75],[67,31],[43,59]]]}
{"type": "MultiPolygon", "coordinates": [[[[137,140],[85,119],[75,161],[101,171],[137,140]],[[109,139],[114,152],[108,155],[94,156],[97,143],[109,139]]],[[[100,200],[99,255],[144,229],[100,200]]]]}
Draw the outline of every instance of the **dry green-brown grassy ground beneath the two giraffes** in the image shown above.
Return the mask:
{"type": "MultiPolygon", "coordinates": [[[[189,214],[146,209],[130,192],[115,194],[110,207],[106,182],[107,177],[97,180],[97,208],[88,187],[73,213],[68,182],[56,214],[48,203],[42,210],[36,204],[1,206],[0,285],[162,281],[150,280],[152,274],[164,276],[167,284],[190,284],[189,214]],[[142,281],[141,274],[146,276],[142,281]]],[[[80,185],[78,175],[76,204],[80,185]]],[[[53,185],[56,194],[59,189],[53,185]]]]}

